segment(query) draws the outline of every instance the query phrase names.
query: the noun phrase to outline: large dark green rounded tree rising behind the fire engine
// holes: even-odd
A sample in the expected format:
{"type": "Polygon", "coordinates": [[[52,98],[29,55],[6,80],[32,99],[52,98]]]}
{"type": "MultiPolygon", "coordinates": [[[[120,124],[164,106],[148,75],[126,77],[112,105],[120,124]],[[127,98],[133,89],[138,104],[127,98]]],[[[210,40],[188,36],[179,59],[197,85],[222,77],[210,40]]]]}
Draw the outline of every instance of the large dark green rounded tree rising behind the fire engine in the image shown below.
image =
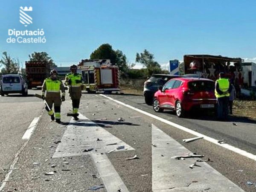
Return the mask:
{"type": "Polygon", "coordinates": [[[122,76],[128,73],[126,55],[119,49],[114,50],[110,44],[102,44],[90,55],[90,59],[110,59],[113,65],[117,65],[122,76]]]}

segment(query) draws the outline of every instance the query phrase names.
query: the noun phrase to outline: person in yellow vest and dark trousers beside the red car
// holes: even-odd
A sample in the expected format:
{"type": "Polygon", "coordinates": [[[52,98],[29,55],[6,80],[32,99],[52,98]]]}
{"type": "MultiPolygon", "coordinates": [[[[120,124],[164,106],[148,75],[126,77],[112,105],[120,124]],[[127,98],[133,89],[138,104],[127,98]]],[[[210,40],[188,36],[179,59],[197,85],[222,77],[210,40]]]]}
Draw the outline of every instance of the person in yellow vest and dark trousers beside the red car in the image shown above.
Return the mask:
{"type": "Polygon", "coordinates": [[[220,73],[219,79],[215,82],[218,119],[227,119],[230,90],[231,86],[229,80],[224,78],[224,73],[220,73]]]}

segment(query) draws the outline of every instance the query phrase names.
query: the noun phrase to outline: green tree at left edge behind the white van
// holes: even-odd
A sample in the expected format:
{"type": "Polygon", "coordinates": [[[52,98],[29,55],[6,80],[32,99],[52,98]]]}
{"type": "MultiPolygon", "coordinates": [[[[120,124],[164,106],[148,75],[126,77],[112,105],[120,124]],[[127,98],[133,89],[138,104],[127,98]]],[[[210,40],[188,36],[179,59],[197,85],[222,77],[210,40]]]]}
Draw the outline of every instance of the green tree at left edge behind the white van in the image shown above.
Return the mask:
{"type": "Polygon", "coordinates": [[[0,63],[2,63],[4,66],[3,69],[1,70],[1,72],[3,74],[19,73],[19,71],[20,71],[19,61],[11,58],[10,55],[8,55],[6,51],[3,52],[2,59],[0,60],[0,63]]]}

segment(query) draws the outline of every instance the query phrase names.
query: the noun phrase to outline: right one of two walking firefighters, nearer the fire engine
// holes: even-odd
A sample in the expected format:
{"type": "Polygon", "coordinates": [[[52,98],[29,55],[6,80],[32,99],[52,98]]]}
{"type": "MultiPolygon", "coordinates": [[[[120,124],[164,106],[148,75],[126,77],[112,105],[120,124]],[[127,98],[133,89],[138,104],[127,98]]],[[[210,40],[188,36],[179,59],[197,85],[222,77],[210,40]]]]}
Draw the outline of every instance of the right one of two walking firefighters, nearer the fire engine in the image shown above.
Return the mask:
{"type": "Polygon", "coordinates": [[[78,120],[78,110],[81,99],[83,78],[80,73],[77,73],[76,65],[70,66],[70,73],[67,73],[65,80],[65,85],[69,86],[69,95],[70,99],[72,100],[73,117],[75,120],[78,120]]]}

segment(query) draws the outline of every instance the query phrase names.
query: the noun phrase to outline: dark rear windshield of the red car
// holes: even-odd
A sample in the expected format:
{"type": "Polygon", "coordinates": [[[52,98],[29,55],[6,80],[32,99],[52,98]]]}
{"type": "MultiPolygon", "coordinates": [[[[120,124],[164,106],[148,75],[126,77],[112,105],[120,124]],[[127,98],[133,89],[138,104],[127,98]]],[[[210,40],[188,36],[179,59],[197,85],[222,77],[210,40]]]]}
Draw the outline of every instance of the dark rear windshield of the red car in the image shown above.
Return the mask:
{"type": "Polygon", "coordinates": [[[209,91],[215,89],[213,81],[190,81],[189,89],[193,91],[209,91]]]}

